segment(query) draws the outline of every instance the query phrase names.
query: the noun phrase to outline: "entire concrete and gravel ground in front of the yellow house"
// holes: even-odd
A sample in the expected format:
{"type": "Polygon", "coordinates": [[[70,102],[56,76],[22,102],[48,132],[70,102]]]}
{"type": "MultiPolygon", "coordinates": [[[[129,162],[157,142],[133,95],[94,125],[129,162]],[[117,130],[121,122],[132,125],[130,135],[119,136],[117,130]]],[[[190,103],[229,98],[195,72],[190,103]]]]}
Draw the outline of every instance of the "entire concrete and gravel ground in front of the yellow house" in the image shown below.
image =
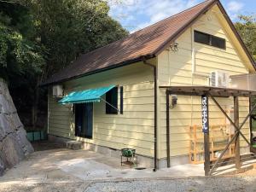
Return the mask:
{"type": "Polygon", "coordinates": [[[201,177],[202,165],[138,171],[119,159],[59,143],[33,143],[36,150],[0,177],[0,191],[256,191],[256,169],[236,177],[201,177]],[[183,183],[184,188],[177,183],[183,183]],[[209,184],[211,190],[207,190],[209,184]],[[234,183],[231,187],[229,183],[234,183]],[[192,184],[192,185],[191,185],[192,184]],[[216,184],[220,187],[216,188],[216,184]],[[191,187],[191,186],[192,187],[191,187]],[[194,187],[193,187],[194,186],[194,187]],[[253,187],[253,188],[252,188],[253,187]],[[224,189],[224,190],[222,190],[224,189]],[[255,190],[253,190],[255,189],[255,190]]]}

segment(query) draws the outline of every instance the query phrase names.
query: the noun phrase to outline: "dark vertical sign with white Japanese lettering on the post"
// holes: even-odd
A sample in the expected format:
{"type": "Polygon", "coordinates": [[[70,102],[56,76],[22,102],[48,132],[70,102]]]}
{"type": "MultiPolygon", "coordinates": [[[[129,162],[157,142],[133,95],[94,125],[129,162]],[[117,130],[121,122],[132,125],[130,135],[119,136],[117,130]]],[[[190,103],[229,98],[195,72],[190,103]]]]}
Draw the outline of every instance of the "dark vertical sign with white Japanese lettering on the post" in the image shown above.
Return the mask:
{"type": "Polygon", "coordinates": [[[202,119],[202,131],[209,133],[209,118],[208,118],[208,96],[201,96],[201,119],[202,119]]]}

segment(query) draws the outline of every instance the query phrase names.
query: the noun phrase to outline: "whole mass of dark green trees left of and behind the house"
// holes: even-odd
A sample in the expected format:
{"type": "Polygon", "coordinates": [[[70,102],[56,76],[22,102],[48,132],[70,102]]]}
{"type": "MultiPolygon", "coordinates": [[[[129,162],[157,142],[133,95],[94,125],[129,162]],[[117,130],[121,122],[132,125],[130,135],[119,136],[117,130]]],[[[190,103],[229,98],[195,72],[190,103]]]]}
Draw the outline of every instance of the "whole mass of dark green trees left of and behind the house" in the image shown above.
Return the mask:
{"type": "Polygon", "coordinates": [[[33,127],[38,107],[46,112],[46,89],[38,84],[78,55],[128,35],[103,0],[0,0],[0,6],[0,75],[33,127]]]}

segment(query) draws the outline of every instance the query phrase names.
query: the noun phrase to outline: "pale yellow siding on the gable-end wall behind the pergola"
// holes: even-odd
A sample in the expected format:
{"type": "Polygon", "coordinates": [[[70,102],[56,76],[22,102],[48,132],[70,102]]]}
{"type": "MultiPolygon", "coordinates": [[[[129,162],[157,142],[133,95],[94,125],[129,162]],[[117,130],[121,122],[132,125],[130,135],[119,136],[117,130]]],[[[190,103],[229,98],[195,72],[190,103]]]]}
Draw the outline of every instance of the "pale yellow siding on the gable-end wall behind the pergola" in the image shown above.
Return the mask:
{"type": "MultiPolygon", "coordinates": [[[[218,13],[219,14],[219,13],[218,13]]],[[[178,51],[165,50],[158,56],[158,75],[160,85],[208,85],[213,71],[230,75],[248,73],[245,61],[241,60],[228,32],[219,22],[221,18],[211,10],[177,39],[178,51]],[[207,32],[226,39],[226,49],[218,49],[195,43],[195,68],[201,75],[192,75],[192,30],[207,32]]],[[[222,20],[224,22],[224,20],[222,20]]],[[[227,25],[227,24],[226,24],[227,25]]],[[[199,96],[178,96],[177,107],[170,109],[171,156],[189,154],[189,126],[201,125],[201,98],[199,96]]],[[[218,98],[224,108],[233,105],[232,98],[218,98]]],[[[210,124],[224,124],[224,115],[210,101],[210,124]]],[[[247,115],[248,100],[240,98],[241,120],[247,115]]],[[[160,158],[166,157],[166,95],[160,90],[160,158]]],[[[240,120],[240,121],[241,121],[240,120]]],[[[249,125],[242,129],[249,137],[249,125]]],[[[246,146],[241,140],[241,147],[246,146]]]]}

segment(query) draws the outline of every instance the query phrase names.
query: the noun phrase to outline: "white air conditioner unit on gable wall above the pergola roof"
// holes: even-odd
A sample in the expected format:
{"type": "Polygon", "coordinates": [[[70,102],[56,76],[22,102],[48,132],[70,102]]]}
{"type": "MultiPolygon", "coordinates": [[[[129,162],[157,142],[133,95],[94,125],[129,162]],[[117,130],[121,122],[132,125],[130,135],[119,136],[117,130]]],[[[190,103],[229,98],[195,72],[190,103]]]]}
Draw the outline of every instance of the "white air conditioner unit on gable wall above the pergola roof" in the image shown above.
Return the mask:
{"type": "Polygon", "coordinates": [[[228,87],[230,84],[230,75],[222,72],[212,72],[210,85],[212,87],[228,87]]]}

